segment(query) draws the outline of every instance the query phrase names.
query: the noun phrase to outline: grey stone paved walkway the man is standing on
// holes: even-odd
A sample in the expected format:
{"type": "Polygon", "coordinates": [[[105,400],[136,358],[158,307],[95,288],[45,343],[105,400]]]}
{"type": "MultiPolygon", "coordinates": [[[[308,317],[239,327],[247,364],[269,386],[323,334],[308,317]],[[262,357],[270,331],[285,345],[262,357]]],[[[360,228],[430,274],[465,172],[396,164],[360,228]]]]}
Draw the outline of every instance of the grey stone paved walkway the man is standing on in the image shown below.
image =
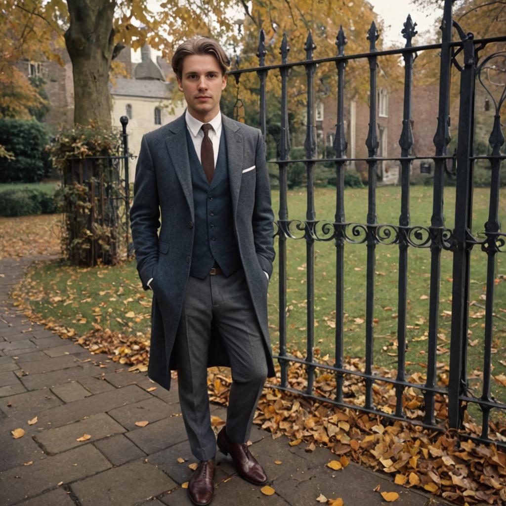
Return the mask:
{"type": "MultiPolygon", "coordinates": [[[[184,506],[182,484],[195,462],[177,396],[31,323],[9,299],[32,259],[0,261],[0,505],[184,506]],[[28,420],[37,417],[34,424],[28,420]],[[145,427],[136,421],[148,420],[145,427]],[[23,437],[11,431],[22,428],[23,437]],[[76,441],[84,434],[85,441],[76,441]],[[184,462],[179,462],[181,458],[184,462]]],[[[213,415],[226,410],[212,405],[213,415]]],[[[242,480],[229,457],[217,454],[216,506],[305,506],[342,497],[345,506],[386,504],[374,488],[397,491],[409,506],[447,504],[395,485],[354,463],[332,471],[329,450],[306,453],[284,436],[254,426],[250,450],[264,466],[275,494],[242,480]],[[281,460],[276,464],[275,460],[281,460]]]]}

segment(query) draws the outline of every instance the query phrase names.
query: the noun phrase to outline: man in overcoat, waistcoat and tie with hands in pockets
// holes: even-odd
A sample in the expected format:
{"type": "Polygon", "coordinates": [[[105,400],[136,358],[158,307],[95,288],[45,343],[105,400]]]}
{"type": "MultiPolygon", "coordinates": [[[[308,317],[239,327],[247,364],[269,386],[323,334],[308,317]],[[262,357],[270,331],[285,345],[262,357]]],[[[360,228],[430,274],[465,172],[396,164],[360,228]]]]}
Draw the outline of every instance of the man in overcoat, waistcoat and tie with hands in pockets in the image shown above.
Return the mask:
{"type": "Polygon", "coordinates": [[[267,482],[245,443],[265,379],[275,376],[267,325],[274,215],[261,131],[220,112],[228,64],[210,38],[176,50],[187,109],[143,136],[130,212],[139,276],[153,290],[148,375],[168,390],[178,371],[199,460],[188,483],[194,504],[213,498],[217,443],[241,477],[267,482]],[[215,365],[230,366],[233,379],[218,439],[207,396],[207,367],[215,365]]]}

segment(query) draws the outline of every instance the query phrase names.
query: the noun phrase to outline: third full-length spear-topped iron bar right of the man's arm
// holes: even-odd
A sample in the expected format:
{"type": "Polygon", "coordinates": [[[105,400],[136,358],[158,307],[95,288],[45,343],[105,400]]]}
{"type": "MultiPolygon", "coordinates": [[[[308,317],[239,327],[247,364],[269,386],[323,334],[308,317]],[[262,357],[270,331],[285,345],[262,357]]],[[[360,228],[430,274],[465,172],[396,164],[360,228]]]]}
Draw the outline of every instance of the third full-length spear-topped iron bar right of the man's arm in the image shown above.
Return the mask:
{"type": "MultiPolygon", "coordinates": [[[[345,45],[348,43],[343,26],[339,29],[335,45],[338,47],[338,56],[344,56],[345,45]]],[[[334,149],[336,158],[344,158],[348,143],[345,137],[345,68],[346,61],[335,62],[338,69],[338,122],[335,125],[334,149]]],[[[344,354],[344,249],[345,235],[345,171],[344,161],[335,162],[335,367],[343,367],[344,354]]],[[[343,374],[336,372],[336,401],[343,402],[343,374]]]]}

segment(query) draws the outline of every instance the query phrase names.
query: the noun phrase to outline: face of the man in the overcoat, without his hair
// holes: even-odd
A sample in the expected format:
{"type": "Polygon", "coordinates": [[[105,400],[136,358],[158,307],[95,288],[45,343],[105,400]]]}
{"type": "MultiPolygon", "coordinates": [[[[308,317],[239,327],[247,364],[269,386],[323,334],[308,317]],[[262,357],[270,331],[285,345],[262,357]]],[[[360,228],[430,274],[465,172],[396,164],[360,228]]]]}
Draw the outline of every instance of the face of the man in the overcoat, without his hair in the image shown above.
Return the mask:
{"type": "Polygon", "coordinates": [[[215,56],[189,55],[184,58],[178,87],[193,117],[203,123],[213,119],[220,111],[220,98],[226,86],[227,75],[222,75],[215,56]]]}

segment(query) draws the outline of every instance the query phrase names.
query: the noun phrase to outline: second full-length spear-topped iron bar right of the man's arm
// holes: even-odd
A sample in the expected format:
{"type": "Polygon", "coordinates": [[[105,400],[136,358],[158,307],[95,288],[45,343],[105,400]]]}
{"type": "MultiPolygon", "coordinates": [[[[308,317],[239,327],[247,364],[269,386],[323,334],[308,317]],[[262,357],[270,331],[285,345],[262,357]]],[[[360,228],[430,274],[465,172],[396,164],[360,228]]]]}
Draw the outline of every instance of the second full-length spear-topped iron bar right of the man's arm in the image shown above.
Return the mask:
{"type": "MultiPolygon", "coordinates": [[[[313,35],[311,30],[308,33],[306,45],[306,60],[313,59],[313,51],[316,46],[313,42],[313,35]]],[[[315,136],[315,121],[314,121],[314,73],[316,65],[314,63],[305,64],[308,90],[307,90],[307,125],[306,125],[306,140],[304,147],[306,148],[306,159],[316,158],[316,136],[315,136]]],[[[306,162],[307,168],[307,209],[306,209],[306,269],[307,269],[307,353],[306,361],[308,372],[308,387],[307,393],[313,393],[314,381],[314,366],[310,365],[313,362],[313,348],[314,348],[314,238],[313,230],[315,226],[315,203],[314,203],[314,184],[313,184],[313,168],[315,162],[306,162]]]]}

